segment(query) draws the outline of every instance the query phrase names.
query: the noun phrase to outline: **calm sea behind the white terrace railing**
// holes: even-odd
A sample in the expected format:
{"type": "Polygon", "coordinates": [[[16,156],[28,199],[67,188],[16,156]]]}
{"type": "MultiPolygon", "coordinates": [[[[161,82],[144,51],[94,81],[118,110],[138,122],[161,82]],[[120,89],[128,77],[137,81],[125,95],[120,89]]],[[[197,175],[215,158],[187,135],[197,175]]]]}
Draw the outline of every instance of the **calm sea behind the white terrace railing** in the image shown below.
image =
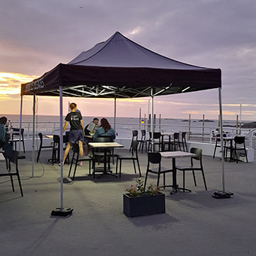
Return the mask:
{"type": "MultiPolygon", "coordinates": [[[[3,116],[3,115],[1,115],[3,116]]],[[[20,115],[19,114],[8,114],[5,115],[8,117],[8,120],[11,121],[12,126],[19,127],[20,115]]],[[[99,117],[100,120],[101,117],[99,117]]],[[[120,138],[130,138],[132,130],[148,130],[151,131],[151,123],[148,118],[144,117],[116,117],[114,123],[114,117],[105,117],[108,119],[108,122],[114,128],[116,135],[120,138]],[[144,120],[145,119],[145,120],[144,120]]],[[[63,117],[64,122],[65,116],[63,117]]],[[[83,117],[84,126],[90,121],[93,120],[93,117],[83,117]]],[[[29,114],[22,115],[22,127],[24,128],[24,134],[27,136],[32,135],[32,122],[33,117],[29,114]]],[[[246,123],[250,121],[246,121],[246,123]]],[[[245,122],[243,122],[245,123],[245,122]]],[[[236,123],[236,120],[223,120],[224,132],[234,133],[236,130],[236,125],[239,126],[239,123],[236,123]]],[[[69,127],[68,127],[69,128],[69,127]]],[[[198,120],[191,119],[172,119],[172,118],[155,118],[154,119],[154,130],[166,133],[174,132],[190,132],[190,133],[204,133],[212,134],[216,133],[218,129],[218,120],[198,120]]],[[[50,133],[58,134],[59,133],[59,116],[53,115],[35,115],[35,133],[50,133]]]]}

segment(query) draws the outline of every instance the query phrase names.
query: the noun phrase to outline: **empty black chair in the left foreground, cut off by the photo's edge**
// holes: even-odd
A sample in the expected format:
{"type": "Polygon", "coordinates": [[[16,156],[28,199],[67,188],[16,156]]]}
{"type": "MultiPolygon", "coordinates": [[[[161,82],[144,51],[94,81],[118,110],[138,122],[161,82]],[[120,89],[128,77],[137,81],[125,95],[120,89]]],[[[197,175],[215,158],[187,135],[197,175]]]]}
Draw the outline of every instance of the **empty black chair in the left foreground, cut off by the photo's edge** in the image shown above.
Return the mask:
{"type": "Polygon", "coordinates": [[[20,185],[20,194],[21,197],[23,197],[23,189],[21,187],[21,182],[20,182],[20,173],[18,169],[18,157],[19,157],[19,151],[7,151],[3,153],[6,161],[6,166],[0,168],[0,177],[2,176],[9,176],[11,178],[11,187],[14,191],[14,180],[13,177],[17,176],[19,185],[20,185]],[[15,165],[15,169],[12,169],[11,166],[15,165]]]}

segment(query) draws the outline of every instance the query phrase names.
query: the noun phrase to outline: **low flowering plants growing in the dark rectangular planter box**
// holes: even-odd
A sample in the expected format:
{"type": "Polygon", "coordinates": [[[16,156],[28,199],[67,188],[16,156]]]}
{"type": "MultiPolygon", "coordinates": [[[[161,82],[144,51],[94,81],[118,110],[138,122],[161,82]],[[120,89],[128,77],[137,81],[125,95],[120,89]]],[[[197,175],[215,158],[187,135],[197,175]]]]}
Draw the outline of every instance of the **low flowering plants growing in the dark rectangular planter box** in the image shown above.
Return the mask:
{"type": "Polygon", "coordinates": [[[157,187],[156,184],[151,183],[147,189],[145,190],[142,179],[136,179],[136,184],[129,188],[126,188],[126,192],[128,192],[130,197],[143,197],[143,196],[151,196],[158,194],[160,188],[157,187]]]}

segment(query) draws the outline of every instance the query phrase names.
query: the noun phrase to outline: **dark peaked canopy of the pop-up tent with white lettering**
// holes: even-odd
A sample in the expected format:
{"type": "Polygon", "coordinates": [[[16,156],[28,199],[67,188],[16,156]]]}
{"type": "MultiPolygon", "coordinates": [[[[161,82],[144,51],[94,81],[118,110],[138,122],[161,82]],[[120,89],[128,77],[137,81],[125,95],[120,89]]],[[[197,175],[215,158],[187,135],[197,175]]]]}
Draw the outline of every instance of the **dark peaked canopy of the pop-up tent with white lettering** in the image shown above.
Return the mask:
{"type": "MultiPolygon", "coordinates": [[[[115,32],[68,64],[59,63],[40,78],[22,84],[21,96],[59,96],[62,128],[62,96],[114,99],[151,96],[153,114],[154,96],[213,88],[218,88],[221,114],[221,69],[169,59],[115,32]]],[[[59,135],[62,143],[62,129],[59,135]]]]}

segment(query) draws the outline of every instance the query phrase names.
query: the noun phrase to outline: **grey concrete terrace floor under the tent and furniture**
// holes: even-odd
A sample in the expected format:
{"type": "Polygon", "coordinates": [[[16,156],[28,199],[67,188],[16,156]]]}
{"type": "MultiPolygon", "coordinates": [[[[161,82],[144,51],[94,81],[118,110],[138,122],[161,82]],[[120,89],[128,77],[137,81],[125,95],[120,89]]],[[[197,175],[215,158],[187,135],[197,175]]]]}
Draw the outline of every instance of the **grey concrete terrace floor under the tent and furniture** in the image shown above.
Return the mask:
{"type": "MultiPolygon", "coordinates": [[[[120,149],[121,154],[127,150],[120,149]]],[[[87,163],[79,166],[75,181],[63,184],[64,206],[72,207],[69,218],[51,217],[59,206],[59,166],[47,163],[50,151],[42,151],[32,177],[32,152],[19,160],[24,197],[17,181],[0,178],[1,255],[255,255],[256,162],[225,162],[225,187],[230,199],[215,199],[222,190],[221,161],[203,156],[208,190],[200,174],[197,187],[187,174],[186,187],[166,195],[166,213],[136,218],[123,214],[122,195],[134,183],[132,162],[123,162],[121,178],[93,180],[87,163]]],[[[147,154],[139,153],[142,175],[147,154]]],[[[177,163],[189,159],[177,160],[177,163]]],[[[0,163],[5,164],[4,162],[0,163]]],[[[171,160],[163,159],[170,167],[171,160]]],[[[115,166],[114,166],[115,167],[115,166]]],[[[114,169],[113,167],[113,169],[114,169]]],[[[69,166],[64,166],[64,176],[69,166]]],[[[181,172],[178,172],[181,184],[181,172]]],[[[151,175],[149,182],[156,181],[151,175]]],[[[167,180],[168,181],[168,180],[167,180]]],[[[169,184],[172,183],[169,175],[169,184]]]]}

